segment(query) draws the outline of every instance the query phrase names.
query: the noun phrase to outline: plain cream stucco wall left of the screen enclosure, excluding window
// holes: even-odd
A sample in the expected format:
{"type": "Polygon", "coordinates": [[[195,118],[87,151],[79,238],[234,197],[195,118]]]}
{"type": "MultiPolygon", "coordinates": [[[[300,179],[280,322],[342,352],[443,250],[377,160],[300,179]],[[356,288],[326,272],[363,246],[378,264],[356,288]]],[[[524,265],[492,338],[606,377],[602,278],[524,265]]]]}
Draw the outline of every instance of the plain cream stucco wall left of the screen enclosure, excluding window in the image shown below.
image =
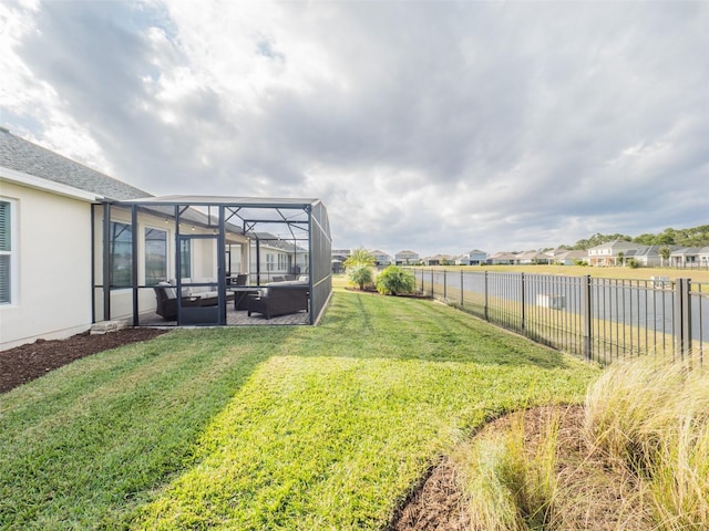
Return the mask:
{"type": "Polygon", "coordinates": [[[16,210],[17,300],[0,304],[0,350],[91,326],[91,202],[2,180],[16,210]]]}

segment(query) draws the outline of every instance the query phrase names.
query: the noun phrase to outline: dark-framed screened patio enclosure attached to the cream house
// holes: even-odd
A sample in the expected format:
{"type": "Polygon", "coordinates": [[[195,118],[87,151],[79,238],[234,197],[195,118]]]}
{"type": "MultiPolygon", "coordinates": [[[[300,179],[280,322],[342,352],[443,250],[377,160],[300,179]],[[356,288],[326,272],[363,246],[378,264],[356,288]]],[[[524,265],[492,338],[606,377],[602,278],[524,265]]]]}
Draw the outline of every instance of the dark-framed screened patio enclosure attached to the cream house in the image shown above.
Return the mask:
{"type": "Polygon", "coordinates": [[[319,199],[147,197],[92,216],[94,322],[317,324],[330,300],[319,199]]]}

